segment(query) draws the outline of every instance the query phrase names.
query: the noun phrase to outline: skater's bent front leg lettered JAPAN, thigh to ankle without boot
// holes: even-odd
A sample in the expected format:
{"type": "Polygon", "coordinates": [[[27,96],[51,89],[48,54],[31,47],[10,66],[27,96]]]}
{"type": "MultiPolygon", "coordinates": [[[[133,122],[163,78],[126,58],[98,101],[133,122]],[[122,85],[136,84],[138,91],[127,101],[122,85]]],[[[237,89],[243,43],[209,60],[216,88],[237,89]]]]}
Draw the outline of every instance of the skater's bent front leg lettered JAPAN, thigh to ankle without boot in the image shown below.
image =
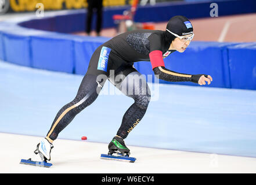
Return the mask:
{"type": "Polygon", "coordinates": [[[131,67],[117,73],[115,75],[115,82],[113,82],[113,78],[110,82],[125,95],[134,99],[134,103],[125,112],[117,132],[117,136],[125,139],[145,115],[151,97],[150,89],[147,86],[145,77],[131,67]]]}

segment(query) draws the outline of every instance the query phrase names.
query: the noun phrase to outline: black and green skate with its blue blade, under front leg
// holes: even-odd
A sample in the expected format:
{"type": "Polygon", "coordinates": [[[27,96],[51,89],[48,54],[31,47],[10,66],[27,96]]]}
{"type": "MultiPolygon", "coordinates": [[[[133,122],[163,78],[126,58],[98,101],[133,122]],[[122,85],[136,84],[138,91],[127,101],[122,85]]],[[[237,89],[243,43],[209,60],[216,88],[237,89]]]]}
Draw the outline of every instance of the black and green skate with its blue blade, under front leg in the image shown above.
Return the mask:
{"type": "Polygon", "coordinates": [[[129,157],[130,150],[125,146],[124,139],[115,136],[109,143],[109,153],[101,154],[102,159],[135,162],[136,158],[129,157]]]}

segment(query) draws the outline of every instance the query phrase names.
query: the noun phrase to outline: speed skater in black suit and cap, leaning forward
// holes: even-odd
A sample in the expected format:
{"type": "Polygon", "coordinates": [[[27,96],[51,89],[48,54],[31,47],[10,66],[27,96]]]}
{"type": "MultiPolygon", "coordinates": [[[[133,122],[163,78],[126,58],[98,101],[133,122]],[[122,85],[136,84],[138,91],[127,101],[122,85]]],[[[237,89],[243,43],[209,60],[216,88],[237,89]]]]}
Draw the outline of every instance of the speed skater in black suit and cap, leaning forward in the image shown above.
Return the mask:
{"type": "Polygon", "coordinates": [[[146,80],[141,78],[141,74],[133,67],[134,62],[150,61],[154,74],[159,79],[169,82],[210,84],[210,75],[189,75],[165,68],[163,58],[174,51],[183,53],[193,36],[193,26],[188,18],[174,16],[168,21],[165,31],[129,31],[103,43],[93,53],[77,95],[73,101],[59,110],[48,134],[38,143],[34,153],[39,154],[42,161],[50,161],[53,141],[78,113],[95,101],[108,79],[121,92],[134,99],[134,103],[122,117],[117,135],[109,143],[109,153],[129,155],[130,150],[125,146],[124,139],[142,120],[150,102],[149,87],[146,80]],[[128,80],[128,77],[132,77],[133,80],[128,80]]]}

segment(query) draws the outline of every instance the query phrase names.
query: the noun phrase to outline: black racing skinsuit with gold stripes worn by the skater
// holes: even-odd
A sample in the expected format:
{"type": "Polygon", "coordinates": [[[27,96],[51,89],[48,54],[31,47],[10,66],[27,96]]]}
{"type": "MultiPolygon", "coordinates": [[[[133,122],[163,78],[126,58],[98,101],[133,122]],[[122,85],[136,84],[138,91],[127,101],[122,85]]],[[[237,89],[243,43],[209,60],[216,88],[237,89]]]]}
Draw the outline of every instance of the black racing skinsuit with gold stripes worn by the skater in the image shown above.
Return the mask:
{"type": "MultiPolygon", "coordinates": [[[[62,131],[81,110],[95,101],[106,79],[111,77],[111,70],[114,71],[114,77],[118,74],[127,76],[134,72],[139,74],[132,66],[134,62],[150,61],[149,53],[154,50],[160,50],[165,54],[170,44],[171,41],[167,39],[164,31],[143,29],[117,35],[99,46],[91,57],[88,70],[84,79],[82,79],[76,97],[59,110],[55,120],[53,120],[46,139],[51,142],[55,140],[60,131],[62,131]]],[[[173,51],[174,50],[170,50],[170,53],[173,51]]],[[[164,68],[164,66],[156,67],[153,71],[160,79],[167,81],[194,81],[192,75],[176,73],[164,68]]],[[[110,82],[117,88],[120,88],[120,86],[118,86],[118,84],[120,84],[119,82],[113,82],[113,80],[110,80],[110,82]]],[[[129,107],[127,112],[125,112],[121,126],[118,129],[117,135],[122,138],[126,138],[135,125],[139,123],[146,113],[150,101],[149,88],[145,89],[145,87],[141,87],[139,83],[128,84],[128,86],[132,86],[135,91],[138,90],[139,92],[143,91],[145,93],[126,94],[128,97],[133,98],[135,102],[129,107]]]]}

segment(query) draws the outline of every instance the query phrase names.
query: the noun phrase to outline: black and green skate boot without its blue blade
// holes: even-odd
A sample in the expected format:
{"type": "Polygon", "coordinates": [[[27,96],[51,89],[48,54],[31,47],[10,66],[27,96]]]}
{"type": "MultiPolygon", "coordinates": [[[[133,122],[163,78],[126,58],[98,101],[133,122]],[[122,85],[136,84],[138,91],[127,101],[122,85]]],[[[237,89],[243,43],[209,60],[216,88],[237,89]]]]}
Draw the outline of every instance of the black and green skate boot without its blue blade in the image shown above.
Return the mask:
{"type": "Polygon", "coordinates": [[[121,156],[129,157],[131,154],[129,152],[130,150],[128,149],[127,146],[125,146],[124,139],[118,136],[114,136],[114,138],[111,140],[109,143],[109,154],[117,153],[120,154],[121,156]]]}

